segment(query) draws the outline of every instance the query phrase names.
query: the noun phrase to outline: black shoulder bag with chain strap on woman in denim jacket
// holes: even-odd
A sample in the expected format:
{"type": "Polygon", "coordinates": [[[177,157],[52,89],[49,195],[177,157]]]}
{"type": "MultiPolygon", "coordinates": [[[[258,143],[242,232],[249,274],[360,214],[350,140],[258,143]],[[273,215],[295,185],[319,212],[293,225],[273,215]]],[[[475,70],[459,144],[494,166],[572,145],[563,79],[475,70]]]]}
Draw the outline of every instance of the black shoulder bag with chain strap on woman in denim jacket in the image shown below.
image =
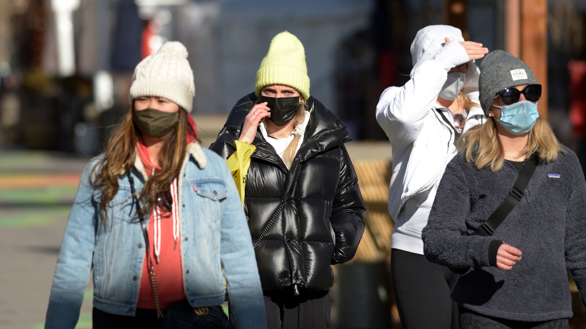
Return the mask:
{"type": "MultiPolygon", "coordinates": [[[[130,193],[132,193],[132,203],[136,204],[137,214],[141,210],[141,205],[138,203],[134,191],[134,180],[130,172],[128,172],[128,181],[130,182],[130,193]]],[[[183,328],[213,328],[213,329],[234,329],[234,324],[230,322],[222,306],[209,307],[193,307],[184,299],[177,303],[171,304],[165,314],[161,310],[159,304],[159,292],[156,287],[155,266],[152,262],[151,248],[148,239],[148,227],[144,218],[139,216],[141,222],[142,235],[145,238],[145,245],[147,248],[149,274],[151,275],[152,292],[155,295],[156,317],[163,318],[165,328],[167,329],[183,329],[183,328]]]]}

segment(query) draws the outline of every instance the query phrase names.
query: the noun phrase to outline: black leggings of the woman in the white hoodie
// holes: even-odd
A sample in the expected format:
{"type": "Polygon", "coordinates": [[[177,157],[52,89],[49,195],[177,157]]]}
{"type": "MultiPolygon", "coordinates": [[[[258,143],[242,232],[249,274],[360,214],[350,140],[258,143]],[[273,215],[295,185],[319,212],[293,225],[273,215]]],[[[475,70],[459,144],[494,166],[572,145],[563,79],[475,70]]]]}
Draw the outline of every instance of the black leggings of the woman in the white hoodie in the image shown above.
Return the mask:
{"type": "Polygon", "coordinates": [[[418,253],[392,249],[391,278],[403,329],[458,328],[458,304],[450,297],[458,275],[418,253]]]}

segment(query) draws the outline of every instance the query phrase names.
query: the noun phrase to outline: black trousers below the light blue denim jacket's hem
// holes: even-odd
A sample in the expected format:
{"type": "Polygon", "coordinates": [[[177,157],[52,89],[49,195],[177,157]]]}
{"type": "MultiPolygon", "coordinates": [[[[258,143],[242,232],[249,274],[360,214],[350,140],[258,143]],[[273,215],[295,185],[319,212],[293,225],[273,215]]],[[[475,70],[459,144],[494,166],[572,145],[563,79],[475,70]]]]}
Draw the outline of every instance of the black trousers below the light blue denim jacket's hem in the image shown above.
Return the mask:
{"type": "Polygon", "coordinates": [[[156,318],[156,310],[137,309],[134,317],[120,316],[118,314],[106,313],[96,309],[91,312],[93,329],[110,328],[142,328],[142,329],[163,329],[163,319],[156,318]]]}

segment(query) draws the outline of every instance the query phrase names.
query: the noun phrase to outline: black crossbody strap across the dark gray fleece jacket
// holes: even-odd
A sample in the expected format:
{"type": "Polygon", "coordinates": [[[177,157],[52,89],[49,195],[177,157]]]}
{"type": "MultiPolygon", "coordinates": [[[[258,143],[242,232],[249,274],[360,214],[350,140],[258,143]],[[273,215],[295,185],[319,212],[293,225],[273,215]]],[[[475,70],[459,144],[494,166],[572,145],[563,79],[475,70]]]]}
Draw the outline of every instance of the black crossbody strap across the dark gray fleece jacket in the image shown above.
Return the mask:
{"type": "Polygon", "coordinates": [[[527,159],[519,173],[519,177],[517,177],[515,184],[513,184],[513,188],[509,191],[503,203],[496,208],[495,212],[490,215],[488,220],[484,222],[481,227],[476,229],[474,234],[488,237],[495,232],[496,228],[498,228],[503,221],[505,221],[505,218],[507,218],[517,203],[523,199],[527,185],[529,185],[529,180],[531,180],[537,167],[537,162],[539,162],[539,157],[535,154],[527,159]]]}

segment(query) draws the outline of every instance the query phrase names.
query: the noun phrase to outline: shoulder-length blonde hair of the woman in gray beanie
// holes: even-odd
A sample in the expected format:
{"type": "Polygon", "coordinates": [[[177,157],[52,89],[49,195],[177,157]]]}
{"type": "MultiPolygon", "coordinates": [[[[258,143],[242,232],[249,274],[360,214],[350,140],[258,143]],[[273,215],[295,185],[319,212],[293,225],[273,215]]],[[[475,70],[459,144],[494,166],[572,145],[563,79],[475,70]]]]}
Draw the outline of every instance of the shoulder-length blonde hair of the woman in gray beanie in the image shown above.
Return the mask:
{"type": "MultiPolygon", "coordinates": [[[[495,118],[489,116],[485,124],[473,126],[458,140],[456,150],[464,152],[466,161],[474,162],[477,169],[490,166],[490,170],[498,172],[505,163],[505,150],[496,132],[496,125],[495,118]]],[[[551,162],[557,159],[559,152],[565,151],[551,126],[545,119],[537,118],[522,153],[526,157],[537,153],[540,160],[551,162]]]]}

